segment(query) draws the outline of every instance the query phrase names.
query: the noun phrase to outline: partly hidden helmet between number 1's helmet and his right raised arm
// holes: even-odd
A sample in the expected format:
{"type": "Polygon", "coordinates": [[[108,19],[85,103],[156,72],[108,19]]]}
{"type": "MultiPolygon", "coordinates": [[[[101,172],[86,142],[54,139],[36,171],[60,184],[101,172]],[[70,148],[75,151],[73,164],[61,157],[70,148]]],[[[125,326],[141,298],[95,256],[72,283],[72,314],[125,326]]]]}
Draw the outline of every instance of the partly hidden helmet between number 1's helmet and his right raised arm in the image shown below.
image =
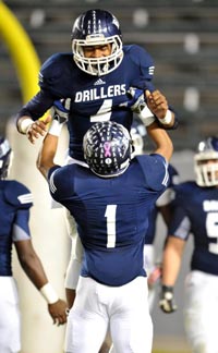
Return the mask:
{"type": "Polygon", "coordinates": [[[133,156],[142,155],[145,147],[145,138],[147,135],[146,127],[140,118],[134,117],[131,126],[131,138],[133,142],[133,156]]]}

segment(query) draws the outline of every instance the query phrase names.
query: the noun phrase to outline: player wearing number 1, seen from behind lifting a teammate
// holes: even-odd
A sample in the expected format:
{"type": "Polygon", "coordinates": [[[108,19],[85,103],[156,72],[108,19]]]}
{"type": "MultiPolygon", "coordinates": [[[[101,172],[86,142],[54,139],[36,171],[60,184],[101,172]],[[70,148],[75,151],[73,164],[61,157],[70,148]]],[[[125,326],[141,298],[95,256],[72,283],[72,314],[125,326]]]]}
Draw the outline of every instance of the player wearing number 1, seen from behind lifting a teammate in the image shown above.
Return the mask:
{"type": "Polygon", "coordinates": [[[97,353],[108,328],[117,353],[152,352],[143,247],[149,209],[167,185],[172,143],[156,123],[148,135],[154,154],[131,160],[128,131],[116,122],[96,123],[84,137],[89,168],[56,166],[58,137],[44,139],[38,168],[52,197],[75,218],[85,252],[68,318],[68,353],[97,353]]]}

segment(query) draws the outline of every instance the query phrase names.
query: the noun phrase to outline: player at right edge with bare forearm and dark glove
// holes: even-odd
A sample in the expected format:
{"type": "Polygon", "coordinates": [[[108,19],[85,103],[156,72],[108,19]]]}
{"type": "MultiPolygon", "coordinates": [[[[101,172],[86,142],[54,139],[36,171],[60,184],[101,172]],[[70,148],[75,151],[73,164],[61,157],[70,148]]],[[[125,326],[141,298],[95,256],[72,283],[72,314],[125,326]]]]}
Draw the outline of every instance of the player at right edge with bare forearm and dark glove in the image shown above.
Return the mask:
{"type": "Polygon", "coordinates": [[[177,309],[173,287],[190,233],[194,236],[191,271],[185,280],[184,326],[195,353],[217,353],[218,313],[218,137],[198,144],[196,181],[174,187],[173,219],[164,252],[159,305],[177,309]]]}

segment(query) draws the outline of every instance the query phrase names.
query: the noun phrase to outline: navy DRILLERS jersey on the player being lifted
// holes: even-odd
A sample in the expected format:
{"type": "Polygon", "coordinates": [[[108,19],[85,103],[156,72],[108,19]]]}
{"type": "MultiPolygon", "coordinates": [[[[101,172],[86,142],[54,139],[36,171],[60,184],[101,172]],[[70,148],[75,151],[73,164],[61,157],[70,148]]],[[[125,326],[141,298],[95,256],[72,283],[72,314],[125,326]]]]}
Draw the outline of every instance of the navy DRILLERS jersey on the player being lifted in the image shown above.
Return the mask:
{"type": "Polygon", "coordinates": [[[152,78],[154,61],[143,48],[131,45],[123,47],[121,64],[102,76],[89,75],[77,68],[72,53],[56,53],[41,66],[40,92],[19,112],[37,120],[57,99],[70,98],[69,154],[83,160],[83,136],[92,124],[112,120],[131,129],[133,112],[130,87],[154,90],[152,78]]]}

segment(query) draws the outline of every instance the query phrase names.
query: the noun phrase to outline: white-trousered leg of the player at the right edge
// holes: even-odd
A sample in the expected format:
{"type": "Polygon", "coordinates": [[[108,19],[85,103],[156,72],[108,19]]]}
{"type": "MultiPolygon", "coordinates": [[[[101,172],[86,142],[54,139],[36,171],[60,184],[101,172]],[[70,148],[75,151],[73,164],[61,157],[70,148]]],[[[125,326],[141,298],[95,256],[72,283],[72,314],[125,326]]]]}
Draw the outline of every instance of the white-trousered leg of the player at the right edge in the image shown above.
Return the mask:
{"type": "Polygon", "coordinates": [[[218,353],[218,277],[192,271],[185,280],[184,326],[194,353],[218,353]]]}

